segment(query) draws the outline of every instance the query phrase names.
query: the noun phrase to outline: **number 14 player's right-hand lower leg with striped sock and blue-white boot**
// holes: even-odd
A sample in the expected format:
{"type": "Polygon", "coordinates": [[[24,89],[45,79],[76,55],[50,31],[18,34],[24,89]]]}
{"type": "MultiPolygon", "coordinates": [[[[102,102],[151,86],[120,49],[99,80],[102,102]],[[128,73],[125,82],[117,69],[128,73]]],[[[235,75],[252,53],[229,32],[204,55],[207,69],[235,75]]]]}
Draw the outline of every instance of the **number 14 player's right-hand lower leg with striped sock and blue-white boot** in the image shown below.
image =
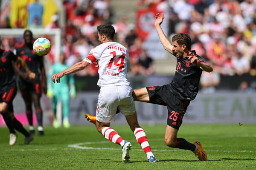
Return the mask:
{"type": "Polygon", "coordinates": [[[147,154],[147,158],[149,162],[154,163],[158,162],[158,160],[154,157],[151,148],[148,143],[148,139],[146,133],[144,132],[143,128],[140,127],[138,120],[137,120],[137,113],[135,112],[133,115],[125,116],[126,120],[131,127],[131,130],[134,132],[134,136],[137,142],[140,144],[144,152],[147,154]]]}

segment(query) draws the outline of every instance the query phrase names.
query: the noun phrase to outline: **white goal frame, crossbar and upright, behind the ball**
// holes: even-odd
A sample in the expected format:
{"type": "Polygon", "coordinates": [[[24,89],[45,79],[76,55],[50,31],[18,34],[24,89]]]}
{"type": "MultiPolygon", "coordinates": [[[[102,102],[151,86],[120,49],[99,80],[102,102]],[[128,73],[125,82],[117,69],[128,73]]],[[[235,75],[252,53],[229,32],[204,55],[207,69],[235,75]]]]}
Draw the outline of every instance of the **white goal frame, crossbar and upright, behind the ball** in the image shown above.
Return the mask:
{"type": "MultiPolygon", "coordinates": [[[[0,35],[1,37],[23,36],[23,32],[25,30],[26,29],[24,28],[14,28],[14,29],[3,28],[3,29],[0,29],[0,35]]],[[[43,37],[44,35],[50,35],[54,37],[54,46],[55,46],[54,60],[55,62],[57,62],[59,60],[59,56],[61,53],[61,29],[60,28],[51,28],[51,29],[31,28],[29,30],[31,30],[33,33],[33,36],[37,38],[39,38],[40,36],[43,37]]]]}

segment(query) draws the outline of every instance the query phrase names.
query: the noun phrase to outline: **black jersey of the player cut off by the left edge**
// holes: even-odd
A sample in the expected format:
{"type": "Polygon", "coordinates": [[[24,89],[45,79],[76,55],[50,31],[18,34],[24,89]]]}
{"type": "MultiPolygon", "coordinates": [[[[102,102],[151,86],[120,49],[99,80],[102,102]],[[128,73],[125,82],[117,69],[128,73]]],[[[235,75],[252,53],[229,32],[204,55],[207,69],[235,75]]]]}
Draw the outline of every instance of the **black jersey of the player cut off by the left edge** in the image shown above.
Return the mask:
{"type": "Polygon", "coordinates": [[[16,79],[15,73],[12,66],[12,61],[16,61],[17,56],[15,56],[12,51],[3,51],[0,49],[0,90],[6,86],[15,86],[16,79]]]}

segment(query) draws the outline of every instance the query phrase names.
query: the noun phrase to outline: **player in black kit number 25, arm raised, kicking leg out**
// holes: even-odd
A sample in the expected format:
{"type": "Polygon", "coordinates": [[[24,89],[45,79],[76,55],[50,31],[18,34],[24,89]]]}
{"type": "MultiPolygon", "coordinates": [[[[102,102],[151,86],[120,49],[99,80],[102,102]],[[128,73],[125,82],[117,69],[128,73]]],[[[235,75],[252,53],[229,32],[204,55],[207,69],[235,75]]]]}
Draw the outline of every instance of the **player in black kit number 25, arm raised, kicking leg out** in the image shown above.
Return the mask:
{"type": "Polygon", "coordinates": [[[191,39],[188,34],[180,33],[172,37],[172,45],[160,27],[163,18],[163,14],[156,14],[155,27],[163,47],[177,58],[175,76],[168,85],[134,90],[134,100],[166,105],[168,109],[166,145],[191,150],[200,161],[207,161],[207,154],[200,142],[196,141],[192,144],[183,138],[177,138],[177,132],[189,102],[195,99],[198,93],[202,71],[211,72],[212,67],[195,51],[191,51],[191,39]]]}

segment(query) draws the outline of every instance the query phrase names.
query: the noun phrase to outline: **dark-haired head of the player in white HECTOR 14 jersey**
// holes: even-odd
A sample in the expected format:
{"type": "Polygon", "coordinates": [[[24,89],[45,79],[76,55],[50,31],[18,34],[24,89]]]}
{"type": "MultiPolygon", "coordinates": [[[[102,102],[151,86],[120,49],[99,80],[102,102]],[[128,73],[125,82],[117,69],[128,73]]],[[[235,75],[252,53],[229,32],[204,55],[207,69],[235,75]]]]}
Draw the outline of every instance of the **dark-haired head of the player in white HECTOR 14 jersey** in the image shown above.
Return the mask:
{"type": "Polygon", "coordinates": [[[99,42],[113,41],[115,35],[115,28],[108,24],[97,26],[99,42]]]}

